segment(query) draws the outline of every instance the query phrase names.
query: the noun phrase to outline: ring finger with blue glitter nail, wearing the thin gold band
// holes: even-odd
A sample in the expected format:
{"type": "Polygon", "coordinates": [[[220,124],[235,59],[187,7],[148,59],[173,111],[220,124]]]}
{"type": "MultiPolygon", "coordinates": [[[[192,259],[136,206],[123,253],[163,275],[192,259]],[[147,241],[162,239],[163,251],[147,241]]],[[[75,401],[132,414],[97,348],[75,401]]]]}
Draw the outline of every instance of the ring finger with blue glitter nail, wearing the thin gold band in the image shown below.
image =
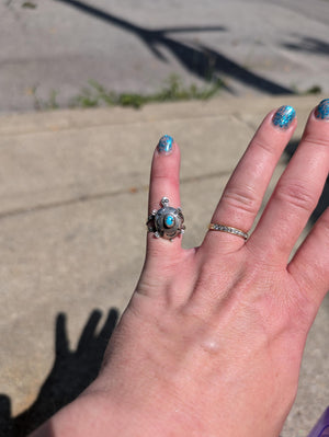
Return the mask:
{"type": "MultiPolygon", "coordinates": [[[[275,165],[296,127],[295,110],[282,106],[262,122],[246,153],[232,173],[212,222],[248,232],[261,206],[275,165]]],[[[243,239],[238,235],[211,231],[204,246],[239,249],[243,239]]]]}

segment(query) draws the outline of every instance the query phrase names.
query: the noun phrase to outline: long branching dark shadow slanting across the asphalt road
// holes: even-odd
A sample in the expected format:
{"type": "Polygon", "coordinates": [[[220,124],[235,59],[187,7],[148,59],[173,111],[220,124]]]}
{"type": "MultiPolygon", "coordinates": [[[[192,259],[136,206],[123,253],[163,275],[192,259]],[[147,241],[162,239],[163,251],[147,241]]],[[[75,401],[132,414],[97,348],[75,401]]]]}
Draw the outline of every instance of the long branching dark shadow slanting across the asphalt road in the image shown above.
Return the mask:
{"type": "MultiPolygon", "coordinates": [[[[162,46],[169,49],[175,58],[193,74],[205,81],[211,81],[218,78],[218,74],[230,76],[231,78],[245,83],[246,85],[252,87],[260,91],[270,94],[294,94],[294,91],[277,84],[271,80],[264,79],[261,76],[253,73],[246,69],[234,60],[229,59],[225,55],[215,51],[206,46],[197,45],[191,42],[191,45],[173,39],[168,36],[169,33],[181,33],[181,32],[224,32],[226,31],[223,26],[209,26],[209,27],[168,27],[160,30],[148,30],[145,27],[137,26],[127,20],[120,19],[105,11],[97,9],[92,5],[83,3],[78,0],[55,0],[66,3],[72,8],[76,8],[89,15],[92,15],[99,20],[105,21],[109,24],[116,25],[127,32],[133,33],[139,37],[144,44],[152,51],[152,54],[163,62],[166,62],[164,55],[159,50],[158,47],[162,46]]],[[[228,91],[232,92],[228,88],[228,91]]]]}

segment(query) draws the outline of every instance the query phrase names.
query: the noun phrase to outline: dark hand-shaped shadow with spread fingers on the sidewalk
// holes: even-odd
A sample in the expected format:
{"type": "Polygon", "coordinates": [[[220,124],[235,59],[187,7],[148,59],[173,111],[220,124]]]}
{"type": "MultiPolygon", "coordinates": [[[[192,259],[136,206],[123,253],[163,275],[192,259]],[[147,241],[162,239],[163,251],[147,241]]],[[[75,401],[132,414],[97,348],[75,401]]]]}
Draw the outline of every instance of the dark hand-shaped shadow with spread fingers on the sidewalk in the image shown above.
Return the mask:
{"type": "Polygon", "coordinates": [[[98,376],[103,355],[118,319],[111,309],[98,330],[102,312],[91,312],[76,350],[69,348],[66,314],[59,313],[55,326],[55,363],[36,401],[16,417],[11,417],[11,402],[0,395],[0,437],[25,437],[58,410],[75,400],[98,376]]]}

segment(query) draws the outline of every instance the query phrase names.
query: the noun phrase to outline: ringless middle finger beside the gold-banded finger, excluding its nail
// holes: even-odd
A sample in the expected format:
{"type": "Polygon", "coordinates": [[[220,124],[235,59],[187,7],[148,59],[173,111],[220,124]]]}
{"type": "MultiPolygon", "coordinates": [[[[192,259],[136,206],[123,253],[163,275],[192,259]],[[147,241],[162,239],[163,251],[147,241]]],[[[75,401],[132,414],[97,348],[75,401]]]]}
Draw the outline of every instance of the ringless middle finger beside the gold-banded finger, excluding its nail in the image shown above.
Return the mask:
{"type": "Polygon", "coordinates": [[[318,110],[310,113],[299,147],[249,240],[250,248],[271,254],[280,263],[287,263],[328,175],[329,123],[317,114],[318,110]]]}

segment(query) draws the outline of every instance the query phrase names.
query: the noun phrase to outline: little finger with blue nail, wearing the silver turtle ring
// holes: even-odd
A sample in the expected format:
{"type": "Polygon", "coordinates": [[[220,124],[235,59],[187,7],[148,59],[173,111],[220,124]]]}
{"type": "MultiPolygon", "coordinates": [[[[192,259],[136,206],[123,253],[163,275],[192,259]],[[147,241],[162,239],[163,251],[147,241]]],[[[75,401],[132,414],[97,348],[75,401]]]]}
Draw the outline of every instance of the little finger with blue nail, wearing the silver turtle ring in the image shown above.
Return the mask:
{"type": "MultiPolygon", "coordinates": [[[[163,197],[169,199],[170,207],[180,207],[179,173],[179,147],[171,137],[166,135],[160,138],[160,141],[154,153],[150,174],[148,215],[151,215],[152,211],[157,211],[163,207],[163,204],[161,204],[161,199],[163,197]]],[[[172,220],[171,217],[169,217],[169,219],[172,220]]],[[[170,223],[168,226],[170,226],[170,223]]],[[[152,218],[150,218],[150,228],[154,228],[152,218]]],[[[155,233],[148,232],[147,255],[151,255],[152,258],[163,256],[167,253],[172,255],[179,251],[180,248],[181,235],[174,237],[170,241],[169,239],[164,238],[156,238],[155,233]]]]}

